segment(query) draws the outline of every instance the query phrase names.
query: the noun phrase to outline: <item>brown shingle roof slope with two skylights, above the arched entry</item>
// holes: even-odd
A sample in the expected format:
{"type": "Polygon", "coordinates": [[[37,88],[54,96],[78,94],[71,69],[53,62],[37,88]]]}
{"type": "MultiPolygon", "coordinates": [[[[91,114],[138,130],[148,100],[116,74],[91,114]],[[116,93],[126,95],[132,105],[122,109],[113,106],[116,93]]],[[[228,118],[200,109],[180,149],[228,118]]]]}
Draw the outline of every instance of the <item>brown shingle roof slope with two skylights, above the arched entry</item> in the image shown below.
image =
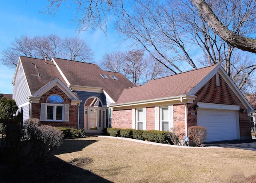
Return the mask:
{"type": "Polygon", "coordinates": [[[123,89],[133,87],[134,84],[124,75],[103,71],[98,65],[54,58],[70,85],[103,88],[109,96],[117,101],[123,89]],[[105,74],[109,79],[104,79],[100,74],[105,74]],[[118,80],[110,77],[114,75],[118,80]]]}

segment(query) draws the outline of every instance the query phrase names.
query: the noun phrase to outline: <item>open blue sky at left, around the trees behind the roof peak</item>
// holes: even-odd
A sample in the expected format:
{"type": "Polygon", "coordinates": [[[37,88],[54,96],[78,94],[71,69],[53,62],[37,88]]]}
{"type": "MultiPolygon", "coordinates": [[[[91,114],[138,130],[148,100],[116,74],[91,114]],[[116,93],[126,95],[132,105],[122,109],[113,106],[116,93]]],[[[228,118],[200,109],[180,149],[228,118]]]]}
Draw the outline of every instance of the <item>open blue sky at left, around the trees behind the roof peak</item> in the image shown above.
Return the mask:
{"type": "MultiPolygon", "coordinates": [[[[100,31],[76,31],[77,25],[72,22],[74,13],[63,9],[55,17],[41,14],[40,11],[48,4],[47,0],[1,0],[0,6],[0,50],[10,47],[11,41],[21,35],[49,35],[60,37],[76,36],[87,41],[95,53],[95,60],[102,55],[117,50],[127,50],[127,44],[119,44],[117,35],[111,28],[107,37],[100,31]]],[[[17,58],[18,61],[18,58],[17,58]]],[[[15,69],[0,63],[0,93],[12,94],[12,79],[15,69]]]]}

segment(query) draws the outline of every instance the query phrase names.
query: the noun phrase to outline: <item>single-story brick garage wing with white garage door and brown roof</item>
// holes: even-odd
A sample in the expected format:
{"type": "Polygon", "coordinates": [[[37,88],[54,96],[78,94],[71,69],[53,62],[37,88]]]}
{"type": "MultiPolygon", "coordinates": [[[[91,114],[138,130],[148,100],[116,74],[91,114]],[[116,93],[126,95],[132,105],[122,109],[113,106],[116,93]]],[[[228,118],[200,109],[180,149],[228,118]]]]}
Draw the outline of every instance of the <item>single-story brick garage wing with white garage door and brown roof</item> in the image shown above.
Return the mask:
{"type": "Polygon", "coordinates": [[[198,125],[208,130],[206,142],[252,138],[254,109],[221,65],[124,89],[110,107],[113,128],[174,128],[183,139],[190,126],[198,125]]]}

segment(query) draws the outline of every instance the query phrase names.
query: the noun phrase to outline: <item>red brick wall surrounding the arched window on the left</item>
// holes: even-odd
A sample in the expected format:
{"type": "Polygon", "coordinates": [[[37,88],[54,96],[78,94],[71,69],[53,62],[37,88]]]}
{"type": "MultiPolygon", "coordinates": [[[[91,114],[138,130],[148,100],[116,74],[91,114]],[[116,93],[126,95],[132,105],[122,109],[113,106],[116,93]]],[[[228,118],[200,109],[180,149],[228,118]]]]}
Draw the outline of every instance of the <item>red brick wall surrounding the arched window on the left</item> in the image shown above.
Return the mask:
{"type": "Polygon", "coordinates": [[[45,94],[43,94],[40,98],[39,103],[32,103],[32,111],[30,118],[40,119],[41,103],[46,103],[47,98],[53,94],[61,96],[64,100],[64,103],[69,104],[69,122],[40,121],[40,124],[51,125],[54,127],[77,128],[77,106],[71,105],[71,99],[57,85],[45,94]]]}

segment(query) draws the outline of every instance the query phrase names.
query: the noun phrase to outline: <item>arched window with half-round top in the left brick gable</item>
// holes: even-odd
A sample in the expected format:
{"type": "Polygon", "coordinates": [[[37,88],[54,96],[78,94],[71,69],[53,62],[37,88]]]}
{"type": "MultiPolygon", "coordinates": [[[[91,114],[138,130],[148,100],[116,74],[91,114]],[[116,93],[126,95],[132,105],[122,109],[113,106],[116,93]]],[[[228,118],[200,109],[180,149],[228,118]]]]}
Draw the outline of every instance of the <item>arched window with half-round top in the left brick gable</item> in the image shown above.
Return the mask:
{"type": "Polygon", "coordinates": [[[46,120],[63,121],[64,100],[59,95],[51,95],[46,100],[46,120]]]}

